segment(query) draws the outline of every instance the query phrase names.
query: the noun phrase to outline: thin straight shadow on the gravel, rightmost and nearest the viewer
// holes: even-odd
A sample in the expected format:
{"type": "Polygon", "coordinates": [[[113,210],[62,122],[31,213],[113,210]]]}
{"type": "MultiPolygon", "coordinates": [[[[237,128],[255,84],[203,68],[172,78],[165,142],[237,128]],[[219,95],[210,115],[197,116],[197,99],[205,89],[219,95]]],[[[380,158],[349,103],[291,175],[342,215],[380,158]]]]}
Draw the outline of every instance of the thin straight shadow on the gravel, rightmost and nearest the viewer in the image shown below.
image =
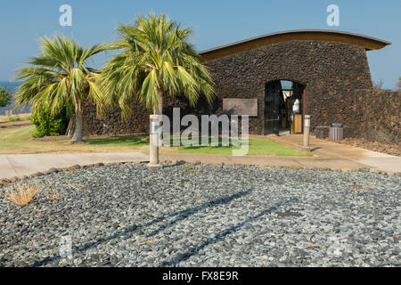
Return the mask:
{"type": "Polygon", "coordinates": [[[243,227],[245,224],[249,224],[250,222],[255,221],[256,219],[258,219],[261,216],[265,216],[266,214],[276,210],[277,208],[280,208],[286,204],[291,204],[295,201],[297,201],[298,199],[290,199],[287,201],[284,201],[282,203],[278,203],[276,205],[274,205],[271,208],[267,208],[266,210],[260,212],[258,215],[256,216],[251,216],[249,219],[241,222],[240,224],[236,224],[234,226],[232,226],[231,228],[226,229],[224,232],[220,232],[219,234],[217,234],[214,238],[206,240],[204,243],[202,243],[201,245],[192,248],[190,250],[188,250],[187,252],[185,252],[184,254],[177,256],[175,258],[173,258],[173,260],[168,261],[168,262],[163,262],[160,266],[161,267],[169,267],[169,266],[174,266],[174,265],[178,265],[180,262],[188,259],[191,256],[194,256],[195,254],[197,254],[201,249],[206,248],[207,246],[209,246],[212,243],[216,243],[219,240],[223,240],[225,238],[225,236],[227,236],[228,234],[231,234],[233,232],[237,232],[238,230],[241,229],[241,227],[243,227]]]}

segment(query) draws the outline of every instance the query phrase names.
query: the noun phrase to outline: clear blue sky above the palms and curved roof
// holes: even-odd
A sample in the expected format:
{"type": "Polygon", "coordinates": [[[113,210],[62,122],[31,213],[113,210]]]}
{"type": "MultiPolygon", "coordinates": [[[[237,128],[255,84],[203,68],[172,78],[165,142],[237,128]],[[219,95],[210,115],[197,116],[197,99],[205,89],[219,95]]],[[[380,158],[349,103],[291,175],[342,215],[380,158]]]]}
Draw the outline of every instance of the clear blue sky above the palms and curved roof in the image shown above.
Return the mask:
{"type": "MultiPolygon", "coordinates": [[[[401,76],[401,0],[12,0],[0,6],[0,81],[38,53],[41,36],[56,32],[74,36],[82,45],[116,39],[119,22],[132,22],[137,14],[167,12],[172,20],[193,29],[192,43],[199,51],[249,37],[289,29],[336,29],[392,42],[368,52],[372,79],[392,89],[401,76]],[[70,4],[72,27],[61,27],[61,4],[70,4]],[[340,6],[340,27],[328,27],[326,8],[340,6]]],[[[100,67],[109,55],[98,55],[100,67]]]]}

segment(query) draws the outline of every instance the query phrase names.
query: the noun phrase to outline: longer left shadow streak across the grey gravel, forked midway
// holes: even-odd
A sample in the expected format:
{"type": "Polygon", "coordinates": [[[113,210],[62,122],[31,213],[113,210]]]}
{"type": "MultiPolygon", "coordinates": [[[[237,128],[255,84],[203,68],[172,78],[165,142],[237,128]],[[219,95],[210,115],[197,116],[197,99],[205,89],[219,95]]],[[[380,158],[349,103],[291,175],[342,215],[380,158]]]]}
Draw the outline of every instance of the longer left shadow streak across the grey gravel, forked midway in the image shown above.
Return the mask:
{"type": "MultiPolygon", "coordinates": [[[[146,235],[146,238],[150,238],[150,237],[158,234],[159,232],[162,232],[162,231],[168,229],[169,227],[173,226],[174,224],[184,220],[188,216],[196,214],[196,213],[198,213],[201,210],[206,209],[206,208],[214,208],[214,207],[217,207],[217,206],[220,206],[220,205],[227,204],[227,203],[231,202],[233,199],[239,199],[239,198],[241,198],[241,197],[243,197],[245,195],[248,195],[250,193],[250,191],[251,190],[241,191],[241,192],[235,193],[233,195],[230,195],[230,196],[227,196],[227,197],[224,197],[224,198],[215,199],[215,200],[212,200],[212,201],[209,201],[209,202],[205,202],[205,203],[203,203],[203,204],[201,204],[201,205],[199,205],[197,207],[187,208],[187,209],[184,209],[182,211],[178,211],[176,213],[169,214],[167,216],[160,216],[160,217],[152,220],[151,222],[149,222],[147,224],[134,224],[131,228],[127,229],[124,232],[119,232],[119,233],[110,235],[108,237],[105,237],[102,240],[97,240],[97,241],[94,241],[94,242],[91,242],[91,243],[87,243],[84,246],[80,246],[80,247],[72,250],[70,256],[74,256],[75,254],[84,252],[89,248],[93,248],[93,247],[95,247],[97,245],[102,244],[103,242],[106,242],[106,241],[109,241],[109,240],[113,240],[113,239],[116,239],[116,238],[119,238],[119,237],[127,236],[128,234],[133,233],[136,230],[145,229],[147,226],[151,226],[152,224],[160,223],[160,222],[162,222],[162,221],[164,221],[164,220],[166,220],[166,219],[168,219],[170,217],[175,217],[176,216],[175,220],[169,222],[166,225],[160,226],[159,229],[157,229],[157,230],[151,232],[150,234],[146,235]]],[[[47,264],[49,264],[49,263],[51,263],[53,261],[58,261],[61,258],[62,258],[61,255],[49,256],[49,257],[46,257],[43,260],[37,261],[33,265],[29,265],[29,267],[45,266],[45,265],[47,265],[47,264]]]]}

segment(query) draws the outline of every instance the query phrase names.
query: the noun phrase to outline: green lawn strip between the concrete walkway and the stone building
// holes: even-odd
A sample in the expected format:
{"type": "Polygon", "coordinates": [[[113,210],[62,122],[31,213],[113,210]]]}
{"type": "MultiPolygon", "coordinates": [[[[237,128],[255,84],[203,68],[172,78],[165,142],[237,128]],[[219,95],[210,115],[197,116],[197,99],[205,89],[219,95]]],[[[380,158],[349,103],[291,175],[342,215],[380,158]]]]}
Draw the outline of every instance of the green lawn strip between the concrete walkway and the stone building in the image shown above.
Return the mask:
{"type": "MultiPolygon", "coordinates": [[[[29,141],[34,132],[35,126],[0,129],[0,154],[149,151],[149,136],[91,138],[85,140],[85,142],[72,144],[68,140],[57,142],[29,141]]],[[[220,139],[217,147],[212,147],[210,144],[209,146],[185,146],[181,144],[179,147],[162,147],[161,152],[232,155],[232,151],[235,149],[240,149],[240,147],[234,145],[222,146],[220,139]]],[[[248,155],[312,156],[308,152],[297,151],[291,146],[264,138],[250,139],[248,155]]]]}

